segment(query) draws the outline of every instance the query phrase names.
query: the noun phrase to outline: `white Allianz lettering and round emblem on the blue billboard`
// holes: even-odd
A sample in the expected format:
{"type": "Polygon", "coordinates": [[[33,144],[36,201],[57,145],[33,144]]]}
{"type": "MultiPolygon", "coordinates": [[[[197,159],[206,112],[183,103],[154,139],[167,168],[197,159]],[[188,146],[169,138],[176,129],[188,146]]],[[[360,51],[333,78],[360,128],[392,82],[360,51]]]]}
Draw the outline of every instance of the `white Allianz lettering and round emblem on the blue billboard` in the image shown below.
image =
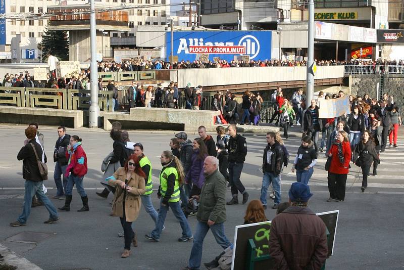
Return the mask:
{"type": "Polygon", "coordinates": [[[204,42],[203,38],[180,38],[177,54],[189,54],[188,46],[244,46],[249,59],[254,59],[260,53],[260,41],[252,35],[245,35],[240,38],[238,44],[234,42],[204,42]]]}

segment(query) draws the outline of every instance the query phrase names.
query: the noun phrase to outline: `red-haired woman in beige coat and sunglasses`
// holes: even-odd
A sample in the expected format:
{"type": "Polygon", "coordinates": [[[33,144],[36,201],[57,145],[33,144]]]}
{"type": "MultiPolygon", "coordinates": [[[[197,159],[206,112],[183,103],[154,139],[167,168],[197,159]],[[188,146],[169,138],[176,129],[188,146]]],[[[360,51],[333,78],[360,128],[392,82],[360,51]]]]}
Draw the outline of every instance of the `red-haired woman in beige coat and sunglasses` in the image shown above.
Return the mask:
{"type": "Polygon", "coordinates": [[[140,212],[140,195],[146,191],[144,177],[146,175],[140,167],[139,159],[133,154],[126,160],[123,168],[119,168],[114,175],[106,179],[109,185],[116,187],[112,213],[121,219],[125,235],[122,258],[129,257],[131,243],[137,246],[137,236],[132,230],[132,222],[136,220],[140,212]]]}

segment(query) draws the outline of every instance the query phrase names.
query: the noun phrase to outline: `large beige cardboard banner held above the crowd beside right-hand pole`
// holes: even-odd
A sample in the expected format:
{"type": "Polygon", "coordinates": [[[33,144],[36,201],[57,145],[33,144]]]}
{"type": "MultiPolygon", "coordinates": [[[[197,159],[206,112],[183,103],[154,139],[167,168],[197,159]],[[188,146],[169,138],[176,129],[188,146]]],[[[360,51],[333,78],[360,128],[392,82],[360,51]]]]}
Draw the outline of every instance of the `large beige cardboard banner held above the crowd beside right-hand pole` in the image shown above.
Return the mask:
{"type": "Polygon", "coordinates": [[[319,99],[319,118],[333,118],[350,113],[349,97],[337,99],[319,99]]]}

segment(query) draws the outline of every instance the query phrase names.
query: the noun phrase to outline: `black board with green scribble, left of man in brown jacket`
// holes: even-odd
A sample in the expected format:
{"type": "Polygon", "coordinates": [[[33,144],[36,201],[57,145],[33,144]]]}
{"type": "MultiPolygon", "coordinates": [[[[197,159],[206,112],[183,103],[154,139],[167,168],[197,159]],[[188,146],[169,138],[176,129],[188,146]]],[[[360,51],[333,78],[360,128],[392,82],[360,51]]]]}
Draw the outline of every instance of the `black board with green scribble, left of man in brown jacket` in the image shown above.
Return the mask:
{"type": "MultiPolygon", "coordinates": [[[[232,270],[245,270],[248,252],[248,240],[252,239],[256,245],[256,257],[269,255],[269,232],[271,221],[236,226],[234,234],[234,250],[232,270]]],[[[269,269],[272,260],[257,261],[255,269],[269,269]]]]}

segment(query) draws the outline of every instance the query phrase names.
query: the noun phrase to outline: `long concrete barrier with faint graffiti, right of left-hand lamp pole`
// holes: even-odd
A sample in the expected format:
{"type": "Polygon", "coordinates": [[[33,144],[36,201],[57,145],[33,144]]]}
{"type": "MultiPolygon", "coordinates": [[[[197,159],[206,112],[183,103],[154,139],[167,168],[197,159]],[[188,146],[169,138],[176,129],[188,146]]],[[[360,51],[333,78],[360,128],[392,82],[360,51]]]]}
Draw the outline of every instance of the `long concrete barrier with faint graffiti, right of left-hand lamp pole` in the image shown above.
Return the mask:
{"type": "Polygon", "coordinates": [[[112,122],[121,121],[128,129],[174,129],[195,131],[204,125],[208,131],[215,131],[213,117],[217,111],[183,110],[168,108],[131,108],[130,113],[105,112],[104,129],[111,130],[112,122]]]}

